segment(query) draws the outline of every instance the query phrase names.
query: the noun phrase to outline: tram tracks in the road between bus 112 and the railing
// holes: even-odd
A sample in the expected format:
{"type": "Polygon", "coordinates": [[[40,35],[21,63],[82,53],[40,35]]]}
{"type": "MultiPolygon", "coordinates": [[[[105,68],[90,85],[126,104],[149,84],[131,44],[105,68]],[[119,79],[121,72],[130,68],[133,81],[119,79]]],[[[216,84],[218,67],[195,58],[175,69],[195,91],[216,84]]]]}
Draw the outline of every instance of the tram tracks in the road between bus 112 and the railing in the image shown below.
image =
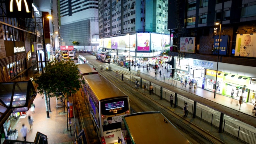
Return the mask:
{"type": "MultiPolygon", "coordinates": [[[[135,112],[145,112],[145,111],[160,111],[172,124],[182,132],[182,134],[188,138],[188,140],[193,144],[216,144],[216,143],[223,143],[222,141],[212,137],[208,132],[205,132],[198,126],[193,125],[192,123],[188,122],[184,118],[181,118],[180,115],[175,114],[168,108],[162,106],[152,98],[148,97],[147,95],[141,93],[138,90],[134,90],[130,84],[122,82],[120,76],[118,76],[118,79],[115,75],[115,69],[118,69],[118,71],[127,71],[126,68],[121,68],[119,66],[116,66],[114,64],[110,64],[112,67],[112,70],[114,71],[105,71],[100,70],[102,65],[106,65],[106,63],[99,64],[100,61],[94,61],[91,60],[90,64],[94,66],[94,68],[97,68],[97,71],[99,74],[104,76],[106,79],[108,79],[110,82],[112,82],[116,87],[118,87],[120,90],[122,90],[125,94],[129,96],[130,101],[130,107],[135,112]],[[117,68],[118,67],[118,68],[117,68]]],[[[129,72],[129,71],[128,71],[129,72]]],[[[131,72],[131,74],[136,74],[135,72],[131,72]]],[[[121,75],[121,73],[119,73],[121,75]]]]}

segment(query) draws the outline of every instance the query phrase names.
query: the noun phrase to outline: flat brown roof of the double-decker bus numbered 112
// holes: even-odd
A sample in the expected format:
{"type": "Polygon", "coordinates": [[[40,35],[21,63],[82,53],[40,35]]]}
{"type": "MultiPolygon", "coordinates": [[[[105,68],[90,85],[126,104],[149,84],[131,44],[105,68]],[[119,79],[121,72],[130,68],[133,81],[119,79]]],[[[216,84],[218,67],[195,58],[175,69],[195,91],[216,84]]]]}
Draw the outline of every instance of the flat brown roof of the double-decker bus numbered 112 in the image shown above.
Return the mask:
{"type": "Polygon", "coordinates": [[[114,86],[110,81],[100,74],[84,75],[85,81],[89,84],[98,100],[126,96],[124,92],[114,86]]]}

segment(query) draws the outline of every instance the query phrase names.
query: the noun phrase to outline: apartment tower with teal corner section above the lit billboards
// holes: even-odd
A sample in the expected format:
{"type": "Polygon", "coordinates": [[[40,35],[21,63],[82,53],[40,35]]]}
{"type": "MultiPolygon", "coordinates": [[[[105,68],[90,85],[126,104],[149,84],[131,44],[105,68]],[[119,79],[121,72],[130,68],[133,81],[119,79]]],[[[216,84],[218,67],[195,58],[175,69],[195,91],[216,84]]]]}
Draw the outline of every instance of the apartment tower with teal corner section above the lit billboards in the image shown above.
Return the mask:
{"type": "Polygon", "coordinates": [[[126,33],[168,34],[167,0],[99,0],[100,38],[126,33]]]}

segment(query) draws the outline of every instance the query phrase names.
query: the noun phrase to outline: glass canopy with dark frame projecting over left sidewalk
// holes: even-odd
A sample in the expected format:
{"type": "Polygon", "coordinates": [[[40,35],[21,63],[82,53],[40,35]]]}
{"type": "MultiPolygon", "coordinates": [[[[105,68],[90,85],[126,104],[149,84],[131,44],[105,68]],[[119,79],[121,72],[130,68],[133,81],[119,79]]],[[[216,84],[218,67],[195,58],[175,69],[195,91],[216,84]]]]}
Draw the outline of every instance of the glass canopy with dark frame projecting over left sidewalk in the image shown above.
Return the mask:
{"type": "Polygon", "coordinates": [[[12,112],[28,111],[35,97],[31,80],[0,83],[0,125],[12,112]]]}

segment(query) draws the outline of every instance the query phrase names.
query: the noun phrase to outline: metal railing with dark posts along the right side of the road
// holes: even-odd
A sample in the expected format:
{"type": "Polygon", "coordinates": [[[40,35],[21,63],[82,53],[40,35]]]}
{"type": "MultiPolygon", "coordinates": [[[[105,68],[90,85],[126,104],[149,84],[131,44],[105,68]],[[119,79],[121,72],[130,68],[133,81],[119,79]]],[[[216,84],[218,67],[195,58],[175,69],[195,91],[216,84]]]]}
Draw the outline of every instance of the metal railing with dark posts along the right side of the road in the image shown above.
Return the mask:
{"type": "MultiPolygon", "coordinates": [[[[135,84],[135,79],[138,80],[137,77],[132,77],[132,82],[135,84]]],[[[170,80],[166,80],[165,82],[170,82],[170,80]]],[[[149,90],[149,82],[143,82],[143,84],[146,83],[147,90],[149,90]]],[[[160,86],[157,86],[156,84],[152,83],[154,86],[154,94],[160,97],[160,86]]],[[[170,102],[169,96],[170,94],[174,94],[174,92],[166,92],[163,91],[163,100],[166,100],[170,102]]],[[[188,103],[188,113],[193,114],[194,112],[194,104],[189,103],[188,101],[183,100],[180,98],[180,95],[178,94],[177,98],[177,107],[183,109],[185,102],[188,103]]],[[[199,104],[199,103],[198,103],[199,104]]],[[[220,113],[220,112],[218,112],[220,113]]],[[[219,129],[220,126],[220,116],[213,114],[207,110],[204,110],[198,106],[196,106],[196,118],[206,122],[210,126],[213,126],[216,129],[219,129]]],[[[243,128],[242,126],[238,126],[228,120],[224,119],[223,126],[222,126],[222,132],[229,134],[230,136],[236,138],[237,140],[240,140],[243,143],[246,144],[256,144],[256,133],[252,132],[250,130],[247,130],[247,128],[243,128]]]]}

